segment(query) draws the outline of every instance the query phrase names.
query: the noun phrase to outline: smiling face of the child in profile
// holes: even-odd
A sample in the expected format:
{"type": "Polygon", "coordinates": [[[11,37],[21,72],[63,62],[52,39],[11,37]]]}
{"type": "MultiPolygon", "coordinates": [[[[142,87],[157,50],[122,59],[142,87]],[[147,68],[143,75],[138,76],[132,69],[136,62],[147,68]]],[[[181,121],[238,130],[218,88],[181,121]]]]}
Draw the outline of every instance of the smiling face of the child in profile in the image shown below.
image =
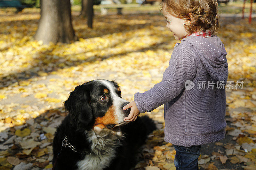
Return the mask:
{"type": "Polygon", "coordinates": [[[171,32],[173,32],[173,36],[176,40],[181,40],[189,34],[183,25],[187,21],[186,19],[176,18],[172,16],[170,13],[168,13],[164,6],[163,14],[164,17],[167,19],[166,27],[169,28],[171,32]]]}

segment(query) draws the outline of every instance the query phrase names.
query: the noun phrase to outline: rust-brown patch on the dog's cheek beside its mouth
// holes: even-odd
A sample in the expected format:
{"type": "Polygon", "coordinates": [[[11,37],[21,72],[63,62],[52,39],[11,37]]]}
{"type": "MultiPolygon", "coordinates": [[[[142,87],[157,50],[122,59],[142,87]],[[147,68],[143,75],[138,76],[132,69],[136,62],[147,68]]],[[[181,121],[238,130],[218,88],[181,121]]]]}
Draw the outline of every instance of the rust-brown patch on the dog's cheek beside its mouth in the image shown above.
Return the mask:
{"type": "Polygon", "coordinates": [[[97,117],[93,126],[97,126],[101,129],[106,128],[108,124],[117,124],[118,118],[115,115],[115,107],[109,107],[108,111],[103,117],[97,117]]]}

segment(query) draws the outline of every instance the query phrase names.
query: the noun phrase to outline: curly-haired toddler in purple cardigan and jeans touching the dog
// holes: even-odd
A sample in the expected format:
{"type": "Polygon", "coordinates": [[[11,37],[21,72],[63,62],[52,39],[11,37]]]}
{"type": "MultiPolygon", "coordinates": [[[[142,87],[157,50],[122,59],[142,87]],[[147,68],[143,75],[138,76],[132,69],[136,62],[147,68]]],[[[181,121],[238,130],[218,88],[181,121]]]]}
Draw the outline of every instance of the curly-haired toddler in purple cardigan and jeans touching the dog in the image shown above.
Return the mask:
{"type": "Polygon", "coordinates": [[[164,104],[164,140],[174,145],[176,169],[198,169],[200,147],[225,137],[226,50],[217,35],[217,0],[162,0],[176,40],[163,80],[135,93],[126,122],[164,104]]]}

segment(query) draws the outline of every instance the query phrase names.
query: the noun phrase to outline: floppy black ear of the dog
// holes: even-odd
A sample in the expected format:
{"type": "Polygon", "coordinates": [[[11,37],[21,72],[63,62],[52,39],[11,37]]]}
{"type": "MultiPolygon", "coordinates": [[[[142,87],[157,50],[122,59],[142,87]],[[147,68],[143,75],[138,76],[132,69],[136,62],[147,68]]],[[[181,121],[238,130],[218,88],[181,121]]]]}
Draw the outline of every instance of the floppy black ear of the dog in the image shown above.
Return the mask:
{"type": "Polygon", "coordinates": [[[71,124],[82,122],[85,126],[93,120],[90,101],[90,91],[87,85],[79,85],[70,93],[68,100],[64,102],[66,111],[69,112],[71,124]]]}

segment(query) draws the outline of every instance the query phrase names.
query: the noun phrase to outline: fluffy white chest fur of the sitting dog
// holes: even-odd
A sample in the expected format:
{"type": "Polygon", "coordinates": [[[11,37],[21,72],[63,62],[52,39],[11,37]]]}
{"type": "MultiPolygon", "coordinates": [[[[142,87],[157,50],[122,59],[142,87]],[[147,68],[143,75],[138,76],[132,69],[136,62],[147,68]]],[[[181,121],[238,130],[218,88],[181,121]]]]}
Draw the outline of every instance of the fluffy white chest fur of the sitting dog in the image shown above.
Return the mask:
{"type": "Polygon", "coordinates": [[[108,129],[99,132],[90,130],[87,135],[88,140],[92,142],[92,154],[86,155],[83,160],[77,162],[78,170],[101,170],[108,167],[116,156],[120,139],[124,138],[121,131],[113,133],[108,129]]]}

